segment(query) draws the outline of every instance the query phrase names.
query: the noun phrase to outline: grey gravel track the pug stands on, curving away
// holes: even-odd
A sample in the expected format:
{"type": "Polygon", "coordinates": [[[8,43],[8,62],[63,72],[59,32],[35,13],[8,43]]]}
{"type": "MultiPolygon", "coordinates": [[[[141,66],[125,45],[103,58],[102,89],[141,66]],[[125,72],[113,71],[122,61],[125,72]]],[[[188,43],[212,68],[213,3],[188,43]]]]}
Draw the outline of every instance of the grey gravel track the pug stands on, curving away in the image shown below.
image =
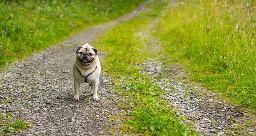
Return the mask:
{"type": "MultiPolygon", "coordinates": [[[[110,135],[108,130],[115,125],[108,120],[121,112],[118,107],[111,105],[122,101],[122,98],[115,98],[115,91],[111,89],[115,84],[110,84],[110,77],[101,73],[98,90],[101,101],[92,100],[88,84],[81,85],[81,101],[73,101],[72,66],[75,51],[81,44],[92,43],[94,36],[109,26],[129,20],[151,1],[144,2],[117,20],[89,27],[67,37],[60,44],[16,61],[7,70],[2,69],[0,113],[11,112],[11,116],[22,117],[32,123],[28,129],[14,134],[110,135]]],[[[99,52],[100,58],[103,55],[99,52]]]]}

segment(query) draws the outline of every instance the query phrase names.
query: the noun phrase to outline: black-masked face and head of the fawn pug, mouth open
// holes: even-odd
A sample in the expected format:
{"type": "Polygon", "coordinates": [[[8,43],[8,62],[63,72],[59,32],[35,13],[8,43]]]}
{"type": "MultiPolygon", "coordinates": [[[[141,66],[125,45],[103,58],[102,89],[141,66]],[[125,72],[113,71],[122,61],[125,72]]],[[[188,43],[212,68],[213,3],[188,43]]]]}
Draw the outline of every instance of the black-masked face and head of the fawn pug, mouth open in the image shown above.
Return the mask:
{"type": "Polygon", "coordinates": [[[76,50],[77,61],[79,61],[83,66],[90,66],[91,64],[94,64],[97,55],[98,51],[89,44],[80,46],[76,50]]]}

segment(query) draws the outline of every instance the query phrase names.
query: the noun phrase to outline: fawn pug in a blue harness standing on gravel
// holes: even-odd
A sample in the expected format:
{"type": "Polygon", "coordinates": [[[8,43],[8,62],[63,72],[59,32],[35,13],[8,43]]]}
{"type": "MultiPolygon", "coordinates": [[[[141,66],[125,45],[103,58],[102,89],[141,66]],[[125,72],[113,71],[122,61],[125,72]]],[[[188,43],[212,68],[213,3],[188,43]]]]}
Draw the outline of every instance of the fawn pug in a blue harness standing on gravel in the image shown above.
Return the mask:
{"type": "Polygon", "coordinates": [[[95,101],[99,101],[97,90],[99,86],[99,75],[101,74],[101,64],[98,51],[85,44],[76,50],[76,58],[73,66],[73,77],[75,96],[74,100],[79,101],[79,88],[81,83],[89,83],[91,94],[95,101]]]}

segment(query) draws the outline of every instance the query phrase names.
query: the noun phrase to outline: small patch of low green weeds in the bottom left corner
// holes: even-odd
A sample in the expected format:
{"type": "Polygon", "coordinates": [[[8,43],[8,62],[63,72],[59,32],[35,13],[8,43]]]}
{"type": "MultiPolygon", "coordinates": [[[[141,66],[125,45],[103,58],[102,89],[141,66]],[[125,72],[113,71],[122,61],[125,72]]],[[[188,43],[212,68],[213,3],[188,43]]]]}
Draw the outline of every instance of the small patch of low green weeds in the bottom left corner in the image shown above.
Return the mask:
{"type": "Polygon", "coordinates": [[[29,124],[22,118],[13,118],[11,113],[0,114],[0,134],[4,134],[4,132],[12,133],[22,128],[28,128],[29,124]]]}

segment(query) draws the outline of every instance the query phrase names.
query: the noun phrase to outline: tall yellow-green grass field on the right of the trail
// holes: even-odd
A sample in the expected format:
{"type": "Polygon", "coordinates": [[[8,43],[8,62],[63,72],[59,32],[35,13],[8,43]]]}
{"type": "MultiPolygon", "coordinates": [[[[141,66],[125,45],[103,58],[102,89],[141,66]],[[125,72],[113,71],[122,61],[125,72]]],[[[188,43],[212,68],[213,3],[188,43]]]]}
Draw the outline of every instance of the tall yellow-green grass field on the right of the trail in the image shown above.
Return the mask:
{"type": "Polygon", "coordinates": [[[162,60],[187,64],[195,81],[256,109],[255,5],[180,0],[156,26],[162,60]]]}

